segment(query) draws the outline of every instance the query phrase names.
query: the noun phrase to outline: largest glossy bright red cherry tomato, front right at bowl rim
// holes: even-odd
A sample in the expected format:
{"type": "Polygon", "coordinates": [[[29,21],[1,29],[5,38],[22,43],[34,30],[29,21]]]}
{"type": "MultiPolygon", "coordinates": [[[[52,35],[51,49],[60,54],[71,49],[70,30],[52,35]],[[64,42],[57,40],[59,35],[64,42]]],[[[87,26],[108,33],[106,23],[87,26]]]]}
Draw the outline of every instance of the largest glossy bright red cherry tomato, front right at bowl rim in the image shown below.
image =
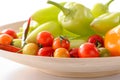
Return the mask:
{"type": "Polygon", "coordinates": [[[80,58],[93,58],[99,57],[99,51],[93,43],[84,43],[78,50],[80,58]]]}

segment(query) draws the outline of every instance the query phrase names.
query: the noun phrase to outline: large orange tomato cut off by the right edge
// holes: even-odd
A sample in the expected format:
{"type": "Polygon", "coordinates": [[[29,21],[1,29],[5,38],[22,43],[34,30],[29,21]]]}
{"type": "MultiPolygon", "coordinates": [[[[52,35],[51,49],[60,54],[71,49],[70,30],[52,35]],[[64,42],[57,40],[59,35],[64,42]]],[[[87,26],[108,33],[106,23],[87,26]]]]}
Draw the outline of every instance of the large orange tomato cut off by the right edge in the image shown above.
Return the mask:
{"type": "Polygon", "coordinates": [[[105,48],[111,56],[120,56],[120,25],[108,31],[104,39],[105,48]]]}

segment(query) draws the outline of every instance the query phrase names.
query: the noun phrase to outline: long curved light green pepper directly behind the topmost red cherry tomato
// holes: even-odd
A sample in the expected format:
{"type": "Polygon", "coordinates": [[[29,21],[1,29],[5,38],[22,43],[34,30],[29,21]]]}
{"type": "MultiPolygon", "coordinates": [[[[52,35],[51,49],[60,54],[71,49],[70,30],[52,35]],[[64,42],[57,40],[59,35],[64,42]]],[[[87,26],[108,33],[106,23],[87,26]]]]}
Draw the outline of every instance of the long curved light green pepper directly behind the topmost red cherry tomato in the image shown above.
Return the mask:
{"type": "Polygon", "coordinates": [[[36,43],[36,37],[37,34],[41,31],[48,31],[50,32],[54,37],[58,37],[62,34],[63,28],[62,26],[56,22],[56,21],[48,21],[40,26],[38,26],[36,29],[34,29],[26,38],[26,43],[36,43]]]}

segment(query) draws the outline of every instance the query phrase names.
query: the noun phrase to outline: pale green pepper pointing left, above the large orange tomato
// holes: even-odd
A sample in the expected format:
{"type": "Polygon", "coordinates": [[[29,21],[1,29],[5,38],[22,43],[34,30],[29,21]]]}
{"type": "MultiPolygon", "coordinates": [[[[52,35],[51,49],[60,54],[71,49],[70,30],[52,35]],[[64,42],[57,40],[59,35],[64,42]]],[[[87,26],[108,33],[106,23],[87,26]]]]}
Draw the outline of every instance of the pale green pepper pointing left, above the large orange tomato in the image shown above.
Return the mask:
{"type": "Polygon", "coordinates": [[[100,35],[120,24],[120,12],[105,13],[91,22],[92,29],[100,35]]]}

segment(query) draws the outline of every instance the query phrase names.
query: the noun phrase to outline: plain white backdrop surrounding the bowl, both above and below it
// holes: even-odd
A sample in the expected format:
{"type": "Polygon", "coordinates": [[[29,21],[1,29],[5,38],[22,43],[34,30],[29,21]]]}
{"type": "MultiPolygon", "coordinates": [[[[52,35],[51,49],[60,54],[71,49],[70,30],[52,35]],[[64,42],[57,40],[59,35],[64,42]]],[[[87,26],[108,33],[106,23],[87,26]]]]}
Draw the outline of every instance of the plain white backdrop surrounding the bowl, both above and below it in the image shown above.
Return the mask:
{"type": "MultiPolygon", "coordinates": [[[[46,0],[0,0],[0,25],[28,19],[34,11],[41,8],[41,6],[45,6],[45,4],[43,4],[45,1],[46,0]]],[[[106,1],[108,0],[99,0],[99,2],[103,3],[106,1]]],[[[98,0],[79,0],[79,2],[91,8],[92,4],[98,2],[98,0]]],[[[110,6],[110,10],[119,11],[119,7],[119,0],[115,0],[110,6]]],[[[63,78],[48,75],[31,67],[0,57],[0,80],[120,80],[120,74],[94,79],[63,78]]]]}

